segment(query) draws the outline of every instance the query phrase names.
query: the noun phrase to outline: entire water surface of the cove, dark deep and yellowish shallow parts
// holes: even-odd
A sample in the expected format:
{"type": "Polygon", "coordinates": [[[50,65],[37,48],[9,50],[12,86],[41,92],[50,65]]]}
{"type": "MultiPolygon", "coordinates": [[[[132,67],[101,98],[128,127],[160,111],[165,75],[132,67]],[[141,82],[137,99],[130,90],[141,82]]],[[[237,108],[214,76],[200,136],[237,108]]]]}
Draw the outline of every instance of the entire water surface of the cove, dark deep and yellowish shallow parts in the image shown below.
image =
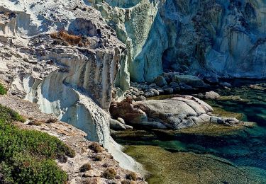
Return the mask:
{"type": "MultiPolygon", "coordinates": [[[[207,101],[218,115],[256,122],[250,127],[208,124],[180,131],[146,130],[117,134],[126,153],[143,163],[149,183],[266,183],[266,90],[250,81],[231,81],[207,101]]],[[[266,83],[260,81],[260,84],[266,83]]]]}

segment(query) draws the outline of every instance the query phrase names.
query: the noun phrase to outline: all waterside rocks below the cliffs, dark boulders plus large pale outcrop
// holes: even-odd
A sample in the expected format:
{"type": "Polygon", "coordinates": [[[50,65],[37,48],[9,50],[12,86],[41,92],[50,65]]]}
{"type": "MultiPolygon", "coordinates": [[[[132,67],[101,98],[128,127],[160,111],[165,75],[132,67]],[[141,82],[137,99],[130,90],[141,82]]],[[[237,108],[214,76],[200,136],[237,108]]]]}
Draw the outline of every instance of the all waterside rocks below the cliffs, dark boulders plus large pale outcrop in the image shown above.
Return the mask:
{"type": "MultiPolygon", "coordinates": [[[[242,100],[236,96],[220,96],[210,91],[218,88],[230,91],[232,87],[228,82],[219,81],[216,77],[201,76],[200,79],[198,76],[170,72],[158,76],[152,84],[131,84],[133,86],[126,91],[123,100],[111,103],[110,113],[115,119],[111,120],[111,128],[114,130],[132,129],[134,125],[179,130],[209,122],[226,126],[245,124],[234,117],[217,117],[213,114],[213,108],[199,99],[242,100]],[[178,94],[187,91],[193,96],[178,94]]],[[[250,85],[250,88],[255,86],[250,85]]]]}

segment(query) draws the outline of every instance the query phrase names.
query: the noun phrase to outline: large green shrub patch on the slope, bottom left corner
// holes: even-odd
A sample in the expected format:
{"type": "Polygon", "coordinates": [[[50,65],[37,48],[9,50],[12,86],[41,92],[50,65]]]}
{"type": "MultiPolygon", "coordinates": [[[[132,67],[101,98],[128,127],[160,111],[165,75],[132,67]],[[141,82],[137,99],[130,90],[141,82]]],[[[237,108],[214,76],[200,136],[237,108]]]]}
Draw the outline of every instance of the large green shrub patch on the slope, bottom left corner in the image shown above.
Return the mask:
{"type": "Polygon", "coordinates": [[[0,105],[0,183],[65,183],[67,173],[55,159],[74,157],[74,151],[56,137],[11,124],[24,122],[15,111],[0,105]]]}

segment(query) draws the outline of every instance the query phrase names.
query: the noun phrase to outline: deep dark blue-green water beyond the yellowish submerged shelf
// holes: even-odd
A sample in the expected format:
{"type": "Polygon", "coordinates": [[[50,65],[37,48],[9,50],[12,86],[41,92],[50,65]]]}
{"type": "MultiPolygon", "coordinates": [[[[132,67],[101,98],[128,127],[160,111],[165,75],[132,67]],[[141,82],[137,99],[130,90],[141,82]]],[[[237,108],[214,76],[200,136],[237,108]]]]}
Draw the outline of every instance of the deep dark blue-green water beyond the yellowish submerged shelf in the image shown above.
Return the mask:
{"type": "MultiPolygon", "coordinates": [[[[240,96],[244,100],[209,101],[211,105],[234,113],[243,113],[244,120],[256,122],[254,127],[234,130],[231,134],[175,133],[150,130],[143,137],[115,139],[121,144],[154,145],[171,152],[212,154],[235,163],[266,171],[266,90],[253,89],[250,81],[231,81],[237,85],[230,91],[216,90],[221,96],[240,96]]],[[[259,81],[265,83],[265,81],[259,81]]],[[[263,86],[263,85],[262,85],[263,86]]],[[[266,176],[265,176],[266,177],[266,176]]]]}

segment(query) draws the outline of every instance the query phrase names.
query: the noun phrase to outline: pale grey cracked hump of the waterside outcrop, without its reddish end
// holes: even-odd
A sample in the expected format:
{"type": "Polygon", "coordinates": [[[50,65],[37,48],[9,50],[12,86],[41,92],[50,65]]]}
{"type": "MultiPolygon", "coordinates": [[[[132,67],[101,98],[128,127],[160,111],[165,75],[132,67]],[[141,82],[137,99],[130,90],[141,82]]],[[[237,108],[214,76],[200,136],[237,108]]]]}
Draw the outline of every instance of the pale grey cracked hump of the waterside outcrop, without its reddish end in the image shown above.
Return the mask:
{"type": "Polygon", "coordinates": [[[213,111],[210,105],[192,96],[178,96],[165,100],[146,100],[134,103],[152,122],[178,130],[210,121],[206,113],[213,111]]]}

